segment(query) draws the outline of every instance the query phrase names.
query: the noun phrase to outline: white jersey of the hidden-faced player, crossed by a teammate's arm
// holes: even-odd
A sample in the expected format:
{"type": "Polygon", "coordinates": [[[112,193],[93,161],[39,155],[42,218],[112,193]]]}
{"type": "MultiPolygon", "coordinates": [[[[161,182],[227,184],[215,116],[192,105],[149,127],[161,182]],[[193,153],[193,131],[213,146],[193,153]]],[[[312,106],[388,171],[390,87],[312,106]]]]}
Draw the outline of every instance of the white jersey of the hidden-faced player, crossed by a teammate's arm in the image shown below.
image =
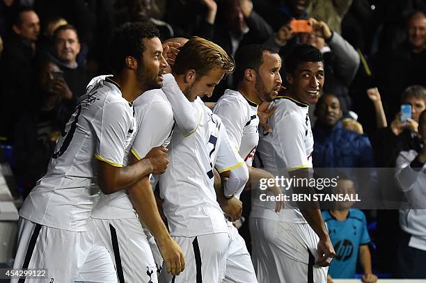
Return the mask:
{"type": "MultiPolygon", "coordinates": [[[[138,131],[126,149],[126,165],[130,150],[140,160],[152,147],[160,145],[166,147],[170,143],[175,124],[171,104],[161,89],[143,92],[134,100],[134,111],[138,131]]],[[[100,219],[124,219],[135,216],[136,211],[125,191],[111,195],[100,193],[100,200],[92,212],[93,218],[100,219]]]]}

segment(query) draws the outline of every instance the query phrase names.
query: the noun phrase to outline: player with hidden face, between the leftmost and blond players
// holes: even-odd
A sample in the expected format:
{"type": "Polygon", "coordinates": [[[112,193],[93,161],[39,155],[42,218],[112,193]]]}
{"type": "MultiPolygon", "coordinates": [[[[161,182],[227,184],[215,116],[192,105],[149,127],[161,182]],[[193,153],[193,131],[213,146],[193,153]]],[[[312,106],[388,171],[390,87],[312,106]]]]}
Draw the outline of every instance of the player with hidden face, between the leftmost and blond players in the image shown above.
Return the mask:
{"type": "MultiPolygon", "coordinates": [[[[163,47],[179,47],[186,39],[177,40],[178,45],[168,41],[167,46],[163,47]]],[[[164,71],[168,65],[166,60],[161,58],[161,54],[158,56],[161,71],[164,71]]],[[[150,70],[145,70],[144,74],[147,75],[149,72],[150,70]]],[[[160,82],[157,87],[161,85],[160,82]]],[[[126,150],[125,163],[128,164],[141,160],[153,147],[166,147],[170,143],[175,126],[171,104],[161,88],[143,92],[135,99],[133,105],[137,130],[134,133],[134,140],[126,150]],[[132,152],[130,156],[129,152],[132,152]]],[[[179,274],[184,268],[182,250],[180,248],[167,250],[173,247],[170,243],[173,239],[159,216],[148,177],[127,189],[127,193],[124,191],[111,195],[101,193],[100,200],[92,212],[93,222],[112,255],[118,281],[158,282],[157,269],[162,265],[161,254],[166,259],[168,271],[173,275],[179,274]],[[155,235],[156,241],[148,230],[155,235]],[[182,262],[173,261],[176,255],[172,254],[171,257],[170,252],[178,252],[182,262]]]]}

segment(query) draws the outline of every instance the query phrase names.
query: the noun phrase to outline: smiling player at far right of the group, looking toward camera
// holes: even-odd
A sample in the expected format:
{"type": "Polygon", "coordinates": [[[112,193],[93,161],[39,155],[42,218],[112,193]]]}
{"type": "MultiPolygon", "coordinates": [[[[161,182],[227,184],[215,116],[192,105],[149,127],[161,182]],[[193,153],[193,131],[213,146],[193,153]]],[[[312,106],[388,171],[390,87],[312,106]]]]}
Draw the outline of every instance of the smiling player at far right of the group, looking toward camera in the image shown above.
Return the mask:
{"type": "MultiPolygon", "coordinates": [[[[259,129],[258,154],[262,167],[274,175],[287,170],[308,178],[313,152],[308,105],[317,102],[324,84],[321,52],[310,45],[295,47],[285,61],[285,75],[290,87],[274,101],[271,133],[259,129]]],[[[335,252],[319,209],[287,202],[286,209],[274,213],[270,203],[255,197],[250,230],[259,282],[326,282],[325,266],[335,252]]]]}

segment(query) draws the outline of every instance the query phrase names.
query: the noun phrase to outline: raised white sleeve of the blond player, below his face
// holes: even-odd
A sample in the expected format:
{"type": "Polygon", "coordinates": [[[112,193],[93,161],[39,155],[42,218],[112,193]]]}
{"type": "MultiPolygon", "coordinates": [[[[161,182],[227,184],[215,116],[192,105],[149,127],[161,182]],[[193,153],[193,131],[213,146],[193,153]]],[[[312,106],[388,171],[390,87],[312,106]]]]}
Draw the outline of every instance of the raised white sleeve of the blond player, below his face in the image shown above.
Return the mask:
{"type": "Polygon", "coordinates": [[[173,108],[173,115],[184,136],[194,134],[198,128],[200,115],[194,104],[189,102],[180,90],[172,74],[164,75],[162,90],[173,108]]]}

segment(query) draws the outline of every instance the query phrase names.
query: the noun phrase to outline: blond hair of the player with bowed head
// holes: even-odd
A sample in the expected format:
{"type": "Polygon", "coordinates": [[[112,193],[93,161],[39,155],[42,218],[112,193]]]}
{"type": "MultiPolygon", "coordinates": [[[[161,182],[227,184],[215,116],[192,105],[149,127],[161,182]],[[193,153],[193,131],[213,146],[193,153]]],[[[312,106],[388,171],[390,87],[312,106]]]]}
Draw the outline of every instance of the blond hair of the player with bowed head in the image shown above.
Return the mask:
{"type": "Polygon", "coordinates": [[[191,69],[196,70],[198,77],[205,76],[212,69],[221,69],[230,73],[235,69],[235,61],[219,45],[193,36],[183,47],[180,47],[173,65],[173,73],[184,74],[191,69]]]}

